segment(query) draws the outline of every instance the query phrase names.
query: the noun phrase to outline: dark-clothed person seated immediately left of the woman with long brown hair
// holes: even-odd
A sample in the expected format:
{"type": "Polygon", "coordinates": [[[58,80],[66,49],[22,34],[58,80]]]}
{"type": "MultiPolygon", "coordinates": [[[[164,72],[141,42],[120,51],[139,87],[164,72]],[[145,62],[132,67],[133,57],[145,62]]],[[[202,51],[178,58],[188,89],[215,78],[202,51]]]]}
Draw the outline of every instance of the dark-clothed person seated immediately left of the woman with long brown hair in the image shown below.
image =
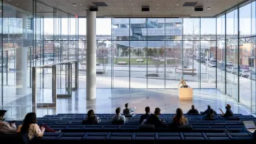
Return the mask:
{"type": "Polygon", "coordinates": [[[154,127],[167,127],[167,124],[165,124],[163,120],[159,119],[159,115],[161,114],[160,112],[161,109],[154,109],[154,114],[150,114],[144,124],[153,124],[154,127]]]}

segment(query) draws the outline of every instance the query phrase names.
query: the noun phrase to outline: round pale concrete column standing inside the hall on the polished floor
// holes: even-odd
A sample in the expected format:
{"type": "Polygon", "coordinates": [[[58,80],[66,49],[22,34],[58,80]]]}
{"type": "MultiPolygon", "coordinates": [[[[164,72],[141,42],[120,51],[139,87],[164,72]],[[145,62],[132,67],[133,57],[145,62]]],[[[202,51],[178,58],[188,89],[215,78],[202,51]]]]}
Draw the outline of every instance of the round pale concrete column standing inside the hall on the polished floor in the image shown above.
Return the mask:
{"type": "Polygon", "coordinates": [[[87,10],[87,100],[96,98],[96,12],[87,10]]]}

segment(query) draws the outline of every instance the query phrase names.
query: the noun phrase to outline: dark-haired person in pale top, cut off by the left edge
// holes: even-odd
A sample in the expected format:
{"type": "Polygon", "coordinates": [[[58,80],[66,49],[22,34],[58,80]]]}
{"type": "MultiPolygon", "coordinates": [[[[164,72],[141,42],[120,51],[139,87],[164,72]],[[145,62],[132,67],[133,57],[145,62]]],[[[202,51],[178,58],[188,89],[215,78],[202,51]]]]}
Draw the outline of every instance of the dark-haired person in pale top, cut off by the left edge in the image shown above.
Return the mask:
{"type": "Polygon", "coordinates": [[[4,121],[3,118],[6,114],[6,110],[0,110],[0,133],[2,134],[9,134],[9,133],[16,133],[17,127],[15,123],[8,123],[4,121]]]}

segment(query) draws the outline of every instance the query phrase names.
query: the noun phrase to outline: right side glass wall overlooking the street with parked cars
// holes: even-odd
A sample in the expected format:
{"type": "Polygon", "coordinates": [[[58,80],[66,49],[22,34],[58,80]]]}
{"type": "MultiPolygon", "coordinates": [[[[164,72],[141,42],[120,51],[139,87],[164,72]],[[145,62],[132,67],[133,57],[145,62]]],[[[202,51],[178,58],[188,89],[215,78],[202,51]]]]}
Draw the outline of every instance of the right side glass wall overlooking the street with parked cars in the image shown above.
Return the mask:
{"type": "Polygon", "coordinates": [[[217,17],[217,89],[255,113],[255,2],[217,17]]]}

